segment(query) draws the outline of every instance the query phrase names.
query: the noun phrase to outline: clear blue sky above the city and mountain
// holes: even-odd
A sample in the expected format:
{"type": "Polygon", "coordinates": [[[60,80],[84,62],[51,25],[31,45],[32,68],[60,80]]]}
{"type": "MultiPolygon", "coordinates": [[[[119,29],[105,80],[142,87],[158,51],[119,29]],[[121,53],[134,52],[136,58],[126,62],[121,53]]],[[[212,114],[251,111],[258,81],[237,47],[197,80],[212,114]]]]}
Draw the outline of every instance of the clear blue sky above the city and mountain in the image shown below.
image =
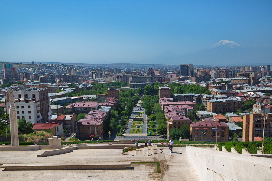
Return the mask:
{"type": "Polygon", "coordinates": [[[135,62],[217,43],[272,48],[272,1],[0,1],[0,61],[135,62]]]}

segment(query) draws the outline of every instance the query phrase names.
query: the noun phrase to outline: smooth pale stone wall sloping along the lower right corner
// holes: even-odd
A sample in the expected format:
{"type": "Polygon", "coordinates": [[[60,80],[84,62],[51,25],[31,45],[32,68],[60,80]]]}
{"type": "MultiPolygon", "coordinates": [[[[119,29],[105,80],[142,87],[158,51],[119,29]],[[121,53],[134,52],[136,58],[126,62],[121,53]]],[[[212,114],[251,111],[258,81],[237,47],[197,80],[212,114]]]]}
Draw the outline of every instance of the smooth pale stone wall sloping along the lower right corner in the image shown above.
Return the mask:
{"type": "MultiPolygon", "coordinates": [[[[271,180],[270,158],[186,147],[200,181],[271,180]]],[[[266,154],[272,156],[272,154],[266,154]]]]}

